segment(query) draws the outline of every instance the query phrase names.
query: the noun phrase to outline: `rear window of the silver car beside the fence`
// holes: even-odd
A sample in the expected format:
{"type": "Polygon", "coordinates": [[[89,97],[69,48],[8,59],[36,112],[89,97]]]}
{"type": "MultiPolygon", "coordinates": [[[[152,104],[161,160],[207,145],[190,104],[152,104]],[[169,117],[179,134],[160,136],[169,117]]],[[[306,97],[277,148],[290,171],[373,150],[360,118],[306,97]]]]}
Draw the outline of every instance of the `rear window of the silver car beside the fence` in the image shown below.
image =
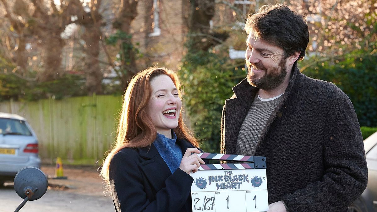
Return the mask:
{"type": "Polygon", "coordinates": [[[31,135],[25,121],[0,118],[0,133],[3,135],[31,135]]]}

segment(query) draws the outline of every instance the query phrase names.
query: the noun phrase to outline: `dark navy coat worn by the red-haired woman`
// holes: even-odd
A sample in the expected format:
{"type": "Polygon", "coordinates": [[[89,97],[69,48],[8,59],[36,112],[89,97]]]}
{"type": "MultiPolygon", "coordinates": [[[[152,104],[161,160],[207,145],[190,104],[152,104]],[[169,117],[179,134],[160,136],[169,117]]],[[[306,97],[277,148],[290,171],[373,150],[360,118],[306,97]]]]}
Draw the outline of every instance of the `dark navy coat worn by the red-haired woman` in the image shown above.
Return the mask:
{"type": "MultiPolygon", "coordinates": [[[[177,139],[182,154],[193,147],[177,139]]],[[[156,147],[124,148],[109,167],[110,190],[115,211],[192,211],[193,178],[181,169],[173,174],[156,147]]]]}

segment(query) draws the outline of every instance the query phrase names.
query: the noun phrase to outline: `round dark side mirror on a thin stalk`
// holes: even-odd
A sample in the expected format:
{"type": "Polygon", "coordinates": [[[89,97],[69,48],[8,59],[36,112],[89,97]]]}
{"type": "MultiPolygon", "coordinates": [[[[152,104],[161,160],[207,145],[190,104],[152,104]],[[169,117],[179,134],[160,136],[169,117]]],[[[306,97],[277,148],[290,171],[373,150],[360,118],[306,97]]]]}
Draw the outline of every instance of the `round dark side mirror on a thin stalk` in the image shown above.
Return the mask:
{"type": "Polygon", "coordinates": [[[14,190],[24,201],[15,212],[18,212],[27,201],[41,198],[46,193],[47,186],[47,177],[40,169],[25,167],[18,171],[14,177],[14,190]]]}

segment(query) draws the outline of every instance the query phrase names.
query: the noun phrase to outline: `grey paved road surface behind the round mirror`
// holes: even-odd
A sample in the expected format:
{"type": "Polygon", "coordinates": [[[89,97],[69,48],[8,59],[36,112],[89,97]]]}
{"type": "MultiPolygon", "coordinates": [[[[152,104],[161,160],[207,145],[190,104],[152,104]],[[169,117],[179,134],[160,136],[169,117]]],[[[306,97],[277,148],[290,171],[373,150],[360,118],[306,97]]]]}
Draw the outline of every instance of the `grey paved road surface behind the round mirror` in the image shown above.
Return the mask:
{"type": "MultiPolygon", "coordinates": [[[[22,199],[13,187],[0,187],[0,211],[14,211],[22,199]]],[[[47,190],[39,200],[28,201],[20,212],[114,211],[112,199],[98,195],[77,194],[68,190],[47,190]]]]}

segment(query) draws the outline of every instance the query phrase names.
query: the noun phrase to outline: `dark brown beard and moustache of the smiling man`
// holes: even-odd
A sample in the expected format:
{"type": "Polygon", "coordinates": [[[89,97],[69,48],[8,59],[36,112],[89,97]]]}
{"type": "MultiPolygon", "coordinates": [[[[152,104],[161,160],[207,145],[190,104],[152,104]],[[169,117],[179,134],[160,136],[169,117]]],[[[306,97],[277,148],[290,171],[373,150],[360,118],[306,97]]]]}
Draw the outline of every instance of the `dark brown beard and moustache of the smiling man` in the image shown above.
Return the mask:
{"type": "Polygon", "coordinates": [[[263,69],[266,72],[263,77],[258,78],[258,76],[251,71],[251,63],[246,60],[248,69],[247,81],[251,86],[259,89],[265,91],[273,90],[284,82],[285,76],[287,75],[287,67],[285,67],[286,63],[287,61],[282,58],[277,67],[273,67],[269,70],[267,70],[262,64],[254,63],[253,66],[257,69],[263,69]]]}

